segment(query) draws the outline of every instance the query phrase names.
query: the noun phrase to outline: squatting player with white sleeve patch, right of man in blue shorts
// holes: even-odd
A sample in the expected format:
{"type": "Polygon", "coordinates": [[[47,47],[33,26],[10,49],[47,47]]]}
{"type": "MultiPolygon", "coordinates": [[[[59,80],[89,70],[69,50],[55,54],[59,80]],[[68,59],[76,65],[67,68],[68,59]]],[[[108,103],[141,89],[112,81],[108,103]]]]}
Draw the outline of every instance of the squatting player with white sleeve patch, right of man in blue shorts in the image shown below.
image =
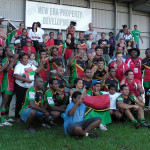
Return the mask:
{"type": "Polygon", "coordinates": [[[51,79],[49,84],[50,88],[44,95],[44,104],[52,118],[56,119],[61,115],[61,113],[65,112],[66,105],[63,105],[64,95],[61,91],[59,91],[58,80],[51,79]]]}

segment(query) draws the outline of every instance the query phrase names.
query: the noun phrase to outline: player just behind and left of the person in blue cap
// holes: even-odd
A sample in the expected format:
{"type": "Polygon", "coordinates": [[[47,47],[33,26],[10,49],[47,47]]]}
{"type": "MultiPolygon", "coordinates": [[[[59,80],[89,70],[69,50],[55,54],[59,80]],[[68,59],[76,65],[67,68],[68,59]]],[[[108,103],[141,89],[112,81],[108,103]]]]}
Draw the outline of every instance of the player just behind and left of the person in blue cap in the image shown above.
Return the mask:
{"type": "Polygon", "coordinates": [[[86,87],[87,90],[92,89],[92,69],[85,69],[84,70],[85,77],[82,78],[83,85],[86,87]]]}

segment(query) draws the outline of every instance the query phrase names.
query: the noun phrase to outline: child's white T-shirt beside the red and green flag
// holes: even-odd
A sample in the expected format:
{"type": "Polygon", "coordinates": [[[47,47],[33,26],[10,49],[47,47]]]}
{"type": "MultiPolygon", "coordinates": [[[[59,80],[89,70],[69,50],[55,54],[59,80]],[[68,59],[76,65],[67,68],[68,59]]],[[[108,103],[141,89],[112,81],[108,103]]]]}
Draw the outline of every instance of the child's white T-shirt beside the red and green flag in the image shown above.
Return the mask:
{"type": "Polygon", "coordinates": [[[109,92],[103,92],[103,94],[109,94],[110,97],[110,109],[116,109],[116,100],[117,98],[121,95],[121,93],[115,93],[113,95],[111,95],[109,92]]]}

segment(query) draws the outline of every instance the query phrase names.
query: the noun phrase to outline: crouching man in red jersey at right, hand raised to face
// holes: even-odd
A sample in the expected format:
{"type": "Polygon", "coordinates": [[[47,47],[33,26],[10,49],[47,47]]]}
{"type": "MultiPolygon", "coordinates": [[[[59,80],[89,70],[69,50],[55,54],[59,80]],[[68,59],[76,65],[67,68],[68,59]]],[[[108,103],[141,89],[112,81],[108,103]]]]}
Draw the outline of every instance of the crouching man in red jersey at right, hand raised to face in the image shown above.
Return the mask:
{"type": "Polygon", "coordinates": [[[127,70],[126,77],[121,81],[120,85],[126,84],[129,87],[130,95],[136,96],[139,101],[143,102],[141,94],[144,94],[144,89],[140,80],[134,79],[132,70],[127,70]]]}

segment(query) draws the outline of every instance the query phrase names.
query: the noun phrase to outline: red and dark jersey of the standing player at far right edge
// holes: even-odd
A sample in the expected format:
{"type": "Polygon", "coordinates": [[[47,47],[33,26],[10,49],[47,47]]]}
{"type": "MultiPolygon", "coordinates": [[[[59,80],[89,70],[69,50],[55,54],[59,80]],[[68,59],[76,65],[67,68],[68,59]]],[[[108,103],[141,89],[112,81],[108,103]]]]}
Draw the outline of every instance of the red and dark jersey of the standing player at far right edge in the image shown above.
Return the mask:
{"type": "Polygon", "coordinates": [[[144,68],[144,81],[150,81],[150,58],[144,58],[142,65],[144,68]]]}

